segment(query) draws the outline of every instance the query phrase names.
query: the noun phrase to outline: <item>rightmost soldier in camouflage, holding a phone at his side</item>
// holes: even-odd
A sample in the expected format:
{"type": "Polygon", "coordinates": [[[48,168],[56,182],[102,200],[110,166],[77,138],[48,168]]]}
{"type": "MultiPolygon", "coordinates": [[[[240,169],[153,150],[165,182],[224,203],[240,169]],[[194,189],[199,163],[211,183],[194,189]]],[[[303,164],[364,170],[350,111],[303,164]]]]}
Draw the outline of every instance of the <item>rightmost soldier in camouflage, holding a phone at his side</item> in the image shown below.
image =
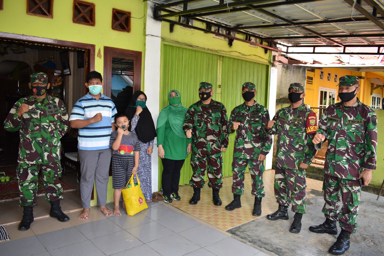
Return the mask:
{"type": "Polygon", "coordinates": [[[336,221],[339,220],[341,232],[329,248],[329,253],[335,255],[349,249],[349,235],[356,231],[361,202],[359,179],[364,186],[371,181],[372,170],[376,170],[377,148],[376,113],[357,98],[361,90],[359,78],[341,76],[338,86],[341,102],[324,111],[313,138],[317,149],[328,140],[323,184],[326,221],[310,227],[314,233],[337,234],[336,221]]]}

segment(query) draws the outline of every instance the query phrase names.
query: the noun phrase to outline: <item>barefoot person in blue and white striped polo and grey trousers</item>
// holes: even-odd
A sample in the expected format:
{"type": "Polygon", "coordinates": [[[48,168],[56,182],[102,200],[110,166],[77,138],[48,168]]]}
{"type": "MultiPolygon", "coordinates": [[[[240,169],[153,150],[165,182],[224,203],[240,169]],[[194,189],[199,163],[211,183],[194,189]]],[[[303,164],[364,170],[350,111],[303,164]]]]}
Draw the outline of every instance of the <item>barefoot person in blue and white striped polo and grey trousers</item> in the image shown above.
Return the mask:
{"type": "Polygon", "coordinates": [[[105,205],[112,155],[109,139],[112,131],[116,130],[114,122],[117,111],[112,99],[100,93],[104,83],[99,72],[89,72],[86,81],[89,93],[75,103],[70,117],[71,128],[79,129],[80,192],[83,204],[79,219],[88,219],[93,181],[99,210],[106,216],[112,214],[105,205]]]}

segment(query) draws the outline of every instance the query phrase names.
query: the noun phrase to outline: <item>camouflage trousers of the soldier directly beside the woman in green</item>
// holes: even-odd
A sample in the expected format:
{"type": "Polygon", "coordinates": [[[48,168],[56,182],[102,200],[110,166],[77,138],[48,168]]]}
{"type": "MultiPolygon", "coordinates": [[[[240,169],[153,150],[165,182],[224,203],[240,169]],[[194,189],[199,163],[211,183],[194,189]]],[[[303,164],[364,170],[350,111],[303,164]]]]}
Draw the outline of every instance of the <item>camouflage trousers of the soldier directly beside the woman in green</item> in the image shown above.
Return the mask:
{"type": "Polygon", "coordinates": [[[191,166],[193,170],[193,175],[189,181],[189,185],[196,188],[204,187],[204,175],[207,170],[207,165],[209,168],[208,171],[208,186],[210,188],[221,188],[223,186],[223,155],[222,153],[217,153],[215,155],[205,155],[199,153],[192,153],[191,156],[191,166]]]}

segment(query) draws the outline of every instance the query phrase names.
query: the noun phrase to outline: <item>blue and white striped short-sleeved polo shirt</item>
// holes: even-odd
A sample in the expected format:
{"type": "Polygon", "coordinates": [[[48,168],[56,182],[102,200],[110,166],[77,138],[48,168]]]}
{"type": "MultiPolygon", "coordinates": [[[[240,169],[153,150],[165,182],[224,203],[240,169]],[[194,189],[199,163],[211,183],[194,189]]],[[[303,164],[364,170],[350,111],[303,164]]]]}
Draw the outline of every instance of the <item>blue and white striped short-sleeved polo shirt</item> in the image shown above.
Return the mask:
{"type": "Polygon", "coordinates": [[[109,148],[112,133],[112,123],[117,114],[116,106],[111,98],[101,94],[99,100],[87,93],[73,106],[70,121],[93,118],[97,113],[103,115],[103,120],[91,123],[79,129],[78,148],[81,150],[102,150],[109,148]]]}

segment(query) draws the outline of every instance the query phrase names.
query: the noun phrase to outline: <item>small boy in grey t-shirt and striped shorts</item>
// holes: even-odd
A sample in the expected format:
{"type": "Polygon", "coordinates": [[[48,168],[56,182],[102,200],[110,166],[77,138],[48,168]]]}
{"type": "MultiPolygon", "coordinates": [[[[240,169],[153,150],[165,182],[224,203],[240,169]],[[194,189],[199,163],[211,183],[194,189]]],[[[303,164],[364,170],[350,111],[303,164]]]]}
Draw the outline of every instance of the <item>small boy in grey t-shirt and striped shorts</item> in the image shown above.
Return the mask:
{"type": "MultiPolygon", "coordinates": [[[[112,187],[115,202],[113,214],[121,215],[119,201],[121,191],[127,185],[132,174],[137,173],[139,167],[140,141],[134,133],[129,132],[129,120],[125,114],[116,115],[117,131],[112,132],[109,145],[113,151],[112,156],[112,187]]],[[[125,209],[124,200],[122,207],[125,209]]]]}

